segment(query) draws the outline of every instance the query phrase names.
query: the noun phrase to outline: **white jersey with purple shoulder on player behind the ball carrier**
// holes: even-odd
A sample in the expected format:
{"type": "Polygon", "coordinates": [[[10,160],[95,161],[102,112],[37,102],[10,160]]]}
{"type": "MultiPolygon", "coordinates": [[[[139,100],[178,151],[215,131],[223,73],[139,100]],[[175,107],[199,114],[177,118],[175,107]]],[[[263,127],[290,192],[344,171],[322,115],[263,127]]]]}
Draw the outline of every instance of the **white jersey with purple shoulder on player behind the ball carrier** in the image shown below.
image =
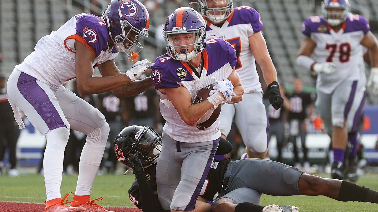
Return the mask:
{"type": "Polygon", "coordinates": [[[249,47],[249,37],[262,28],[260,14],[249,6],[234,8],[232,14],[220,27],[209,22],[206,26],[207,36],[215,35],[234,46],[237,56],[235,69],[242,80],[244,93],[262,92],[255,58],[249,47]]]}

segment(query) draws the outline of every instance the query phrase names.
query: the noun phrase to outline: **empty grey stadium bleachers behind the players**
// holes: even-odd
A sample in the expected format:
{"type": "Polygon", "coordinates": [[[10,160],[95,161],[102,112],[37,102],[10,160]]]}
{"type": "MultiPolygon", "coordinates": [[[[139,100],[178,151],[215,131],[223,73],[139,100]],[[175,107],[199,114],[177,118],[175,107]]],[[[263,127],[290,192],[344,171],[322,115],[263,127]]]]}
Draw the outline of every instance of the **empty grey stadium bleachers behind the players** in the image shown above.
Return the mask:
{"type": "MultiPolygon", "coordinates": [[[[71,16],[81,12],[95,12],[97,15],[107,6],[108,0],[0,0],[0,72],[9,75],[14,65],[33,51],[36,42],[44,35],[56,30],[71,16]],[[88,5],[96,2],[96,5],[88,5]]],[[[143,1],[142,1],[143,2],[143,1]]],[[[178,6],[188,6],[190,0],[163,0],[163,4],[150,12],[150,35],[141,42],[144,50],[140,58],[154,60],[164,53],[164,41],[160,25],[178,6]],[[180,5],[181,4],[181,5],[180,5]]],[[[311,15],[321,15],[320,0],[234,0],[234,6],[248,5],[260,12],[264,23],[263,35],[266,39],[279,80],[291,83],[300,77],[305,86],[313,87],[315,81],[309,71],[296,65],[296,54],[304,35],[302,21],[311,15]]],[[[372,32],[378,33],[378,1],[351,1],[352,12],[369,18],[372,32]]],[[[193,7],[197,7],[193,5],[193,7]]],[[[121,71],[126,71],[131,62],[124,54],[116,58],[121,71]]]]}

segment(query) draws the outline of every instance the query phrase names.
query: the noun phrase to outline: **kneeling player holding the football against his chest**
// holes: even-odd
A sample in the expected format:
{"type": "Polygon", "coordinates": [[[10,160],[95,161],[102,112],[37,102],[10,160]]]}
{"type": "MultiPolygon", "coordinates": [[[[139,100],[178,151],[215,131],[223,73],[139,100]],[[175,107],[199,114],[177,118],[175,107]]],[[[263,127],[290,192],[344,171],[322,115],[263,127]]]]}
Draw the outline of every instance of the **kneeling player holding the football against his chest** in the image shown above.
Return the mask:
{"type": "Polygon", "coordinates": [[[160,94],[163,128],[161,163],[156,181],[164,210],[191,211],[217,149],[219,118],[206,129],[195,125],[207,120],[219,104],[234,104],[244,92],[235,49],[223,39],[206,39],[206,22],[193,8],[176,9],[163,30],[167,53],[152,66],[152,81],[160,94]],[[193,104],[196,92],[214,84],[210,97],[193,104]]]}

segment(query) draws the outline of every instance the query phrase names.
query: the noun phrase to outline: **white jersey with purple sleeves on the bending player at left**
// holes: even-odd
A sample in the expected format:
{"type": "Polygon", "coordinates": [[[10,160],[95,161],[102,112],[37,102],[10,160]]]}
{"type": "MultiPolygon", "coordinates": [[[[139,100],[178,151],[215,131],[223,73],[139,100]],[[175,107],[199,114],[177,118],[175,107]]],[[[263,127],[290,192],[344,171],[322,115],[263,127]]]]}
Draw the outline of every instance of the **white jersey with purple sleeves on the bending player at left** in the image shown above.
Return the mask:
{"type": "Polygon", "coordinates": [[[109,49],[109,34],[101,18],[82,13],[72,17],[57,31],[42,37],[34,51],[15,68],[59,88],[76,77],[74,41],[80,41],[96,54],[94,68],[118,55],[109,49]]]}

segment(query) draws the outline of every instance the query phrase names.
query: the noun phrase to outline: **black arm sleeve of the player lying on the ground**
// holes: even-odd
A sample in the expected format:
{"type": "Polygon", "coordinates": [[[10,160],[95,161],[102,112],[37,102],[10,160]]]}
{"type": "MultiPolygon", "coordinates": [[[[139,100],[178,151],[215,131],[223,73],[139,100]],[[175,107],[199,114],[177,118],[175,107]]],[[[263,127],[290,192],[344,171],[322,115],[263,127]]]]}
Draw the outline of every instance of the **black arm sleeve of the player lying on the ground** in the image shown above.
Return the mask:
{"type": "Polygon", "coordinates": [[[158,195],[155,194],[146,180],[143,172],[135,174],[140,194],[140,204],[143,212],[163,212],[158,195]]]}

